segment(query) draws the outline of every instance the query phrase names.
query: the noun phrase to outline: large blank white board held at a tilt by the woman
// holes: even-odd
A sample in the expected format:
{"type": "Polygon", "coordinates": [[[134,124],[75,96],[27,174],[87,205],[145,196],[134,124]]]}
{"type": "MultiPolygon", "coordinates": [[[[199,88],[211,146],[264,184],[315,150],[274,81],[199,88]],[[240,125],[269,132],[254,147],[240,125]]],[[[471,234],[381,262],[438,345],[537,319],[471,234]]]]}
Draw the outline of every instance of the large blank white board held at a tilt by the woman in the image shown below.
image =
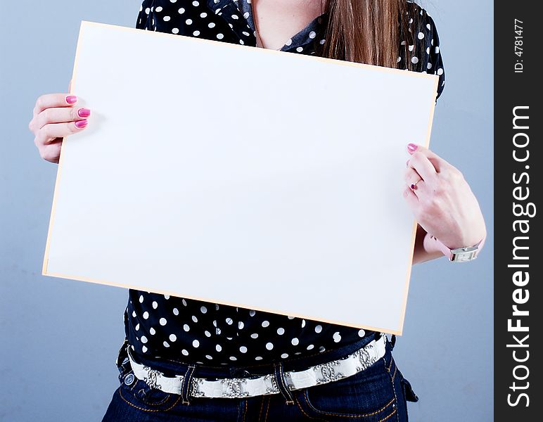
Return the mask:
{"type": "Polygon", "coordinates": [[[437,79],[83,22],[43,274],[401,334],[437,79]]]}

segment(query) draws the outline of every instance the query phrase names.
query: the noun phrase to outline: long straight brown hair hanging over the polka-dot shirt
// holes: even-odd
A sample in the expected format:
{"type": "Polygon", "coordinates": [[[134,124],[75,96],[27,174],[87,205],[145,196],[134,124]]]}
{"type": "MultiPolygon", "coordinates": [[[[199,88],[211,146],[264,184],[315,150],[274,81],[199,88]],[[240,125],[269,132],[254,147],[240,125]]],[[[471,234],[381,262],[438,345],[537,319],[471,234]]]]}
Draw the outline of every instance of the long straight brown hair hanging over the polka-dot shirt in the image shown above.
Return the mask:
{"type": "MultiPolygon", "coordinates": [[[[400,47],[406,58],[416,53],[408,51],[408,46],[416,46],[416,32],[409,30],[406,0],[323,1],[328,26],[321,56],[396,68],[400,47]]],[[[406,62],[411,69],[411,60],[406,62]]]]}

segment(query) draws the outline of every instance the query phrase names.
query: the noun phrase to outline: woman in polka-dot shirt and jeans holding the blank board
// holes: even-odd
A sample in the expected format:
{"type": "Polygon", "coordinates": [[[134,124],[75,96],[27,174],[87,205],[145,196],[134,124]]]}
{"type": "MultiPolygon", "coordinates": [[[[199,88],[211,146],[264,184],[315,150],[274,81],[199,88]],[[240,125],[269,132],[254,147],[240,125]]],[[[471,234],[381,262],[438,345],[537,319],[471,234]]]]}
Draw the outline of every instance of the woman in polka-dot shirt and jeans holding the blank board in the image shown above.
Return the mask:
{"type": "MultiPolygon", "coordinates": [[[[433,20],[404,0],[145,0],[136,26],[435,73],[437,98],[445,84],[433,20]]],[[[74,95],[38,98],[41,156],[58,162],[63,137],[90,114],[74,95]]],[[[414,143],[407,153],[413,262],[482,248],[485,222],[461,173],[414,143]]],[[[381,333],[137,290],[124,324],[104,421],[407,421],[406,400],[418,399],[381,333]]]]}

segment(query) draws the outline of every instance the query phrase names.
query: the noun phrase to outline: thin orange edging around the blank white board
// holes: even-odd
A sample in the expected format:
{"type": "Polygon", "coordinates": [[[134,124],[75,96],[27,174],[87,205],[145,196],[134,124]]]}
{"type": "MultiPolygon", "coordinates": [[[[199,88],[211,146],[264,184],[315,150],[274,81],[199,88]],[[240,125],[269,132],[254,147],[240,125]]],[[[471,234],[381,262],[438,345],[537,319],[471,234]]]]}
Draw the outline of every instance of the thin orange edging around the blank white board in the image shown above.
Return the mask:
{"type": "MultiPolygon", "coordinates": [[[[141,31],[139,29],[131,28],[131,27],[120,27],[120,26],[117,26],[117,25],[109,25],[109,24],[106,24],[106,23],[96,23],[96,22],[89,22],[87,20],[82,20],[81,26],[79,27],[79,37],[77,39],[77,46],[76,46],[76,49],[75,49],[75,60],[74,60],[74,68],[73,68],[73,73],[72,73],[72,85],[71,85],[71,88],[70,88],[70,94],[73,94],[73,92],[75,92],[74,87],[75,87],[75,82],[77,80],[76,77],[77,77],[77,63],[78,63],[78,59],[79,59],[79,44],[80,44],[80,41],[81,41],[81,34],[82,34],[83,30],[84,30],[84,27],[87,26],[87,25],[115,27],[117,30],[141,31]]],[[[154,34],[157,37],[184,37],[183,35],[166,34],[164,32],[154,32],[154,31],[148,32],[148,34],[154,34]]],[[[242,46],[242,45],[237,45],[237,44],[224,43],[222,41],[213,41],[211,39],[199,39],[199,38],[193,38],[193,37],[189,37],[189,38],[191,38],[191,40],[197,41],[197,42],[211,42],[211,43],[220,42],[225,47],[229,46],[230,48],[234,48],[234,49],[253,48],[253,47],[250,47],[250,46],[242,46]]],[[[276,51],[276,50],[272,50],[272,49],[258,49],[258,51],[261,51],[262,53],[272,53],[272,54],[278,54],[278,53],[282,54],[283,53],[283,51],[276,51]]],[[[366,67],[376,68],[376,66],[373,66],[373,65],[366,65],[364,63],[348,62],[348,61],[345,61],[345,60],[336,60],[336,59],[332,59],[332,58],[322,58],[322,57],[304,56],[304,55],[298,55],[297,57],[304,58],[306,60],[320,60],[320,61],[325,61],[325,62],[333,62],[333,63],[339,64],[339,65],[354,66],[354,67],[357,67],[357,68],[366,68],[366,67]]],[[[394,69],[394,68],[385,68],[385,67],[382,67],[382,66],[378,66],[378,70],[380,70],[381,72],[392,72],[392,73],[394,73],[394,72],[405,72],[405,70],[394,69]]],[[[430,75],[430,74],[428,74],[426,72],[410,72],[410,74],[412,74],[411,76],[413,76],[413,77],[434,78],[435,79],[435,92],[437,93],[437,84],[438,84],[438,81],[439,81],[439,77],[437,77],[435,75],[430,75]]],[[[430,119],[429,119],[429,122],[428,122],[428,134],[426,136],[426,148],[428,148],[428,146],[430,144],[430,133],[432,131],[432,121],[433,121],[434,110],[435,110],[435,100],[433,101],[433,104],[432,104],[431,110],[430,110],[430,119]]],[[[49,246],[50,246],[50,242],[51,242],[51,231],[52,231],[52,228],[53,228],[54,217],[55,217],[55,207],[56,207],[56,200],[57,200],[57,194],[58,194],[58,181],[60,180],[60,174],[61,174],[62,163],[63,163],[63,152],[62,151],[63,150],[61,148],[60,149],[60,158],[58,160],[58,169],[57,169],[57,173],[56,173],[55,189],[54,189],[54,192],[53,192],[53,204],[51,205],[51,217],[49,219],[49,231],[47,232],[47,241],[46,241],[46,245],[45,245],[44,263],[43,263],[43,267],[42,267],[42,270],[41,270],[41,274],[44,275],[44,276],[57,277],[57,278],[60,278],[60,279],[87,281],[89,283],[98,283],[98,284],[105,284],[107,286],[116,286],[116,287],[120,287],[120,288],[134,288],[136,290],[140,290],[141,288],[138,288],[136,286],[130,286],[130,285],[124,284],[124,283],[114,283],[114,282],[104,281],[104,280],[89,279],[89,278],[84,277],[84,276],[68,276],[68,275],[65,275],[65,274],[58,274],[58,273],[49,272],[49,269],[48,269],[49,246]]],[[[409,265],[408,265],[408,268],[407,268],[407,275],[406,275],[405,288],[404,288],[404,298],[403,298],[403,305],[402,305],[403,309],[402,309],[402,312],[400,314],[400,324],[399,324],[400,327],[403,326],[404,317],[405,317],[405,309],[406,309],[406,306],[407,306],[407,293],[409,291],[409,278],[411,276],[411,262],[413,260],[413,254],[414,254],[414,245],[415,245],[415,238],[416,238],[416,226],[417,226],[417,223],[414,222],[413,233],[411,235],[411,237],[412,237],[411,238],[411,245],[412,245],[412,247],[411,247],[411,259],[409,260],[409,265]]],[[[172,295],[172,296],[179,295],[179,293],[172,293],[172,292],[168,292],[168,291],[165,291],[165,290],[154,290],[153,289],[153,291],[155,293],[159,293],[159,294],[162,294],[162,295],[172,295]]],[[[194,297],[186,296],[186,295],[184,295],[184,297],[186,297],[188,299],[194,299],[194,300],[203,300],[202,298],[194,298],[194,297]]],[[[209,300],[207,300],[207,299],[205,299],[205,301],[209,302],[209,300]]],[[[240,305],[240,304],[224,302],[224,301],[221,301],[221,303],[224,304],[224,305],[229,305],[229,306],[247,307],[246,305],[240,305]]],[[[272,313],[276,313],[276,314],[278,314],[278,313],[279,314],[284,314],[284,313],[281,313],[281,312],[277,312],[276,310],[264,309],[264,308],[261,308],[261,307],[251,307],[251,309],[255,309],[255,310],[258,310],[258,311],[261,311],[261,312],[272,312],[272,313]]],[[[315,318],[312,318],[310,316],[301,315],[301,314],[291,314],[290,313],[288,315],[296,316],[298,318],[315,319],[315,318]]],[[[352,328],[365,328],[365,329],[372,330],[372,331],[381,331],[383,333],[402,335],[402,330],[400,330],[400,331],[396,330],[395,331],[395,330],[390,330],[388,328],[385,329],[385,328],[378,328],[378,327],[372,327],[372,326],[359,326],[359,325],[355,326],[353,324],[348,324],[348,323],[345,323],[343,321],[332,321],[332,320],[321,319],[321,318],[318,318],[317,320],[322,321],[322,322],[326,322],[328,324],[339,324],[339,325],[343,325],[343,326],[349,326],[349,327],[352,327],[352,328]]]]}

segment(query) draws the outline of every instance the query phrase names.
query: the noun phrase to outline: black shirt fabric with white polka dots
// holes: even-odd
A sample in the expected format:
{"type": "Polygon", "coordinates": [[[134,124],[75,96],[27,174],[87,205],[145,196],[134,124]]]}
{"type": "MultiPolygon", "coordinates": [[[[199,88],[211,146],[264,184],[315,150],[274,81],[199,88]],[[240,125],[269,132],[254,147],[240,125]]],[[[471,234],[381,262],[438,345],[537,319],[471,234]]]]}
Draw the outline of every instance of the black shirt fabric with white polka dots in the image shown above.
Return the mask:
{"type": "MultiPolygon", "coordinates": [[[[250,1],[144,0],[136,27],[256,46],[250,1]]],[[[406,60],[411,60],[414,70],[439,75],[439,96],[445,73],[435,25],[414,3],[409,3],[409,13],[421,15],[419,25],[410,28],[418,43],[402,43],[398,67],[405,68],[406,60]]],[[[281,51],[316,54],[325,42],[325,29],[326,15],[321,15],[288,39],[281,51]]],[[[136,353],[209,366],[302,357],[374,335],[357,328],[139,290],[129,290],[124,326],[136,353]]]]}

